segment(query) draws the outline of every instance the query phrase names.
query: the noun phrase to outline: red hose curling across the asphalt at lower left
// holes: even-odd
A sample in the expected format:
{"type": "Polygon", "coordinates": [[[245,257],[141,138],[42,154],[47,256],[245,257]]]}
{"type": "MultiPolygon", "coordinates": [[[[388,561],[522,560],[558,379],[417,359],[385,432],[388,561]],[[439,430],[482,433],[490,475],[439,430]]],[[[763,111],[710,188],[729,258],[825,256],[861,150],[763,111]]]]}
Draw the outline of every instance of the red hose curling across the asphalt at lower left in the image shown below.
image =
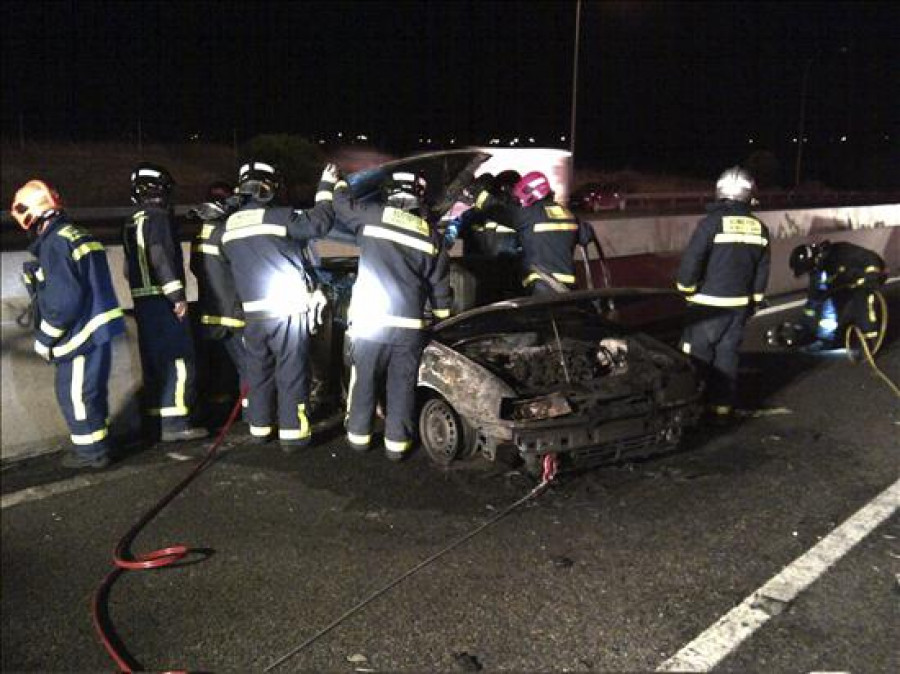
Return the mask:
{"type": "MultiPolygon", "coordinates": [[[[219,430],[219,434],[216,436],[215,441],[207,451],[203,460],[194,467],[187,477],[175,485],[169,493],[163,496],[155,506],[148,510],[144,516],[128,530],[128,533],[119,540],[118,545],[116,545],[116,548],[113,551],[113,564],[115,565],[115,568],[107,574],[106,578],[103,579],[103,582],[100,583],[100,586],[94,593],[91,613],[94,620],[94,629],[100,637],[100,641],[106,649],[106,652],[109,653],[110,657],[115,661],[119,671],[128,672],[130,674],[136,669],[140,670],[141,666],[128,654],[125,645],[116,634],[115,628],[110,620],[107,603],[113,584],[118,580],[119,576],[126,571],[159,569],[164,566],[171,566],[191,552],[191,548],[186,545],[173,545],[160,550],[147,552],[142,555],[134,555],[131,552],[131,544],[134,542],[134,539],[137,538],[141,530],[147,526],[147,524],[172,501],[172,499],[178,496],[178,494],[180,494],[194,478],[210,466],[216,458],[216,454],[222,441],[225,439],[225,436],[231,429],[232,424],[234,424],[238,413],[241,411],[241,404],[245,395],[246,390],[241,391],[241,395],[238,397],[234,408],[228,415],[228,419],[219,430]]],[[[178,671],[180,672],[180,670],[178,671]]]]}

